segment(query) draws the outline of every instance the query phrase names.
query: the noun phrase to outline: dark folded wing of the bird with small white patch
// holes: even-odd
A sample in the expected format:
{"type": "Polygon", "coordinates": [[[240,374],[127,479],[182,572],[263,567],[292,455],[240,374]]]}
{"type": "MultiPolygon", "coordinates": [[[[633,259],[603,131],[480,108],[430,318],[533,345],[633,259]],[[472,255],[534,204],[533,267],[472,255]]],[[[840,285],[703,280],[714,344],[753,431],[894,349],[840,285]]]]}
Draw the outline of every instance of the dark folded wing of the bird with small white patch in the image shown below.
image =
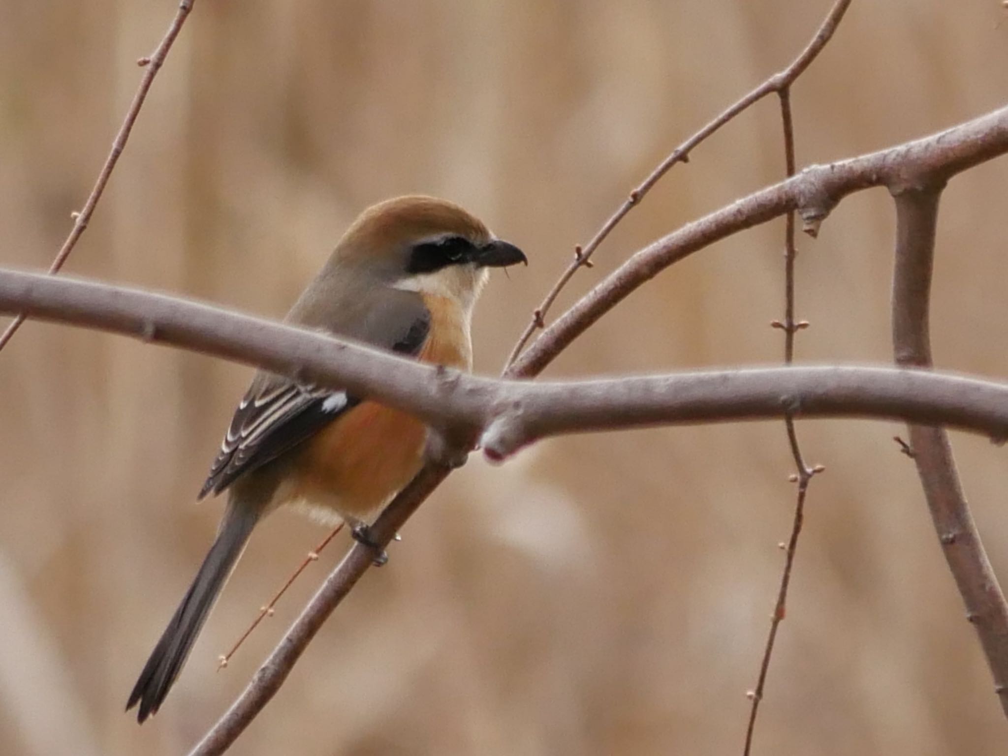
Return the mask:
{"type": "MultiPolygon", "coordinates": [[[[386,344],[393,352],[415,356],[430,331],[429,313],[424,308],[407,324],[386,344]]],[[[240,476],[275,460],[359,403],[360,399],[345,391],[303,386],[260,373],[235,410],[199,498],[219,494],[240,476]]]]}

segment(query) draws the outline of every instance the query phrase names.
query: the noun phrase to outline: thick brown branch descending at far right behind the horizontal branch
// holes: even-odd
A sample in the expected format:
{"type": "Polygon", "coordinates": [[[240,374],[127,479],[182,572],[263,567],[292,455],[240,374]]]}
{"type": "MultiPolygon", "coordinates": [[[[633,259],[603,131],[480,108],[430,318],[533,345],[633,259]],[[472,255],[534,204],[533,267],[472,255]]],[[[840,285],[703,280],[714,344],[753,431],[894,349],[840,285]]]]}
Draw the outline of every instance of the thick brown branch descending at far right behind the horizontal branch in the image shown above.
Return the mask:
{"type": "MultiPolygon", "coordinates": [[[[943,183],[893,188],[896,261],[892,282],[892,341],[896,364],[931,368],[930,286],[934,230],[943,183]]],[[[1008,606],[963,493],[948,433],[909,425],[907,454],[917,475],[966,617],[980,636],[994,689],[1008,715],[1008,606]]]]}

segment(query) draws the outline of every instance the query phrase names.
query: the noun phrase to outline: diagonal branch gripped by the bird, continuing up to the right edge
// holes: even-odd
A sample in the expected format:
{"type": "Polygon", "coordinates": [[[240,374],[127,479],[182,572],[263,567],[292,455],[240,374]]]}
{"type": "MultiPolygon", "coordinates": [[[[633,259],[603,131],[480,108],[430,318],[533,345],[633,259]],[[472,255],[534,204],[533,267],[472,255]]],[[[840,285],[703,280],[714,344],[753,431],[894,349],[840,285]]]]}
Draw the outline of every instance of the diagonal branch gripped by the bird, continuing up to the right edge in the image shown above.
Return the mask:
{"type": "MultiPolygon", "coordinates": [[[[1005,151],[1008,151],[1008,108],[916,142],[843,163],[813,166],[794,178],[756,193],[689,224],[638,252],[547,329],[535,344],[507,369],[506,375],[512,378],[537,375],[574,339],[637,286],[676,260],[720,239],[765,223],[788,210],[801,212],[808,229],[813,230],[832,207],[847,194],[890,181],[895,182],[901,171],[906,171],[908,175],[935,173],[948,177],[1005,151]]],[[[429,496],[447,475],[448,471],[444,468],[433,463],[428,464],[413,484],[396,496],[383,513],[382,520],[388,515],[390,525],[394,524],[396,528],[401,526],[409,513],[429,496]]],[[[377,541],[384,546],[388,539],[378,538],[377,541]]],[[[370,565],[369,558],[350,560],[348,556],[333,573],[331,580],[356,583],[370,565]]],[[[331,595],[329,602],[312,603],[302,613],[298,622],[301,620],[310,622],[314,613],[324,612],[328,616],[343,595],[345,594],[337,594],[336,598],[332,598],[331,595]]],[[[194,753],[221,753],[223,748],[233,742],[272,695],[265,697],[259,695],[259,687],[269,687],[273,684],[274,677],[285,676],[290,666],[303,652],[305,645],[306,641],[294,643],[291,639],[284,638],[260,667],[228,717],[217,723],[205,739],[205,743],[223,744],[221,750],[207,748],[194,753]],[[243,713],[242,718],[232,717],[237,710],[243,713]]]]}

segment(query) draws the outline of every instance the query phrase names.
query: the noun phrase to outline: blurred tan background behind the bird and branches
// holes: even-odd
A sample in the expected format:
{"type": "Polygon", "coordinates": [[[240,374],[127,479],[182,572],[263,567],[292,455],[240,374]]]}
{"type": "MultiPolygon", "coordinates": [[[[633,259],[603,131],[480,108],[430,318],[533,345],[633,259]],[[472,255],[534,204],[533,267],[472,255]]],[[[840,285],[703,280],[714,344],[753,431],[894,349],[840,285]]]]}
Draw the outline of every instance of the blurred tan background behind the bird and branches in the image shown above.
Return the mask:
{"type": "MultiPolygon", "coordinates": [[[[68,270],[279,317],[347,223],[456,200],[529,254],[477,312],[499,370],[528,312],[666,152],[783,67],[827,0],[201,0],[68,270]]],[[[794,89],[798,159],[841,158],[1005,102],[996,0],[856,0],[794,89]]],[[[0,3],[0,261],[41,268],[90,190],[170,2],[0,3]]],[[[944,367],[1008,374],[1008,163],[943,199],[944,367]]],[[[676,167],[579,273],[779,178],[776,103],[676,167]]],[[[890,359],[892,209],[800,240],[802,361],[890,359]]],[[[551,376],[779,360],[782,222],[642,289],[551,376]]],[[[216,659],[324,535],[257,532],[178,683],[122,713],[216,527],[199,490],[249,370],[28,324],[0,355],[0,752],[178,754],[346,548],[230,667],[216,659]]],[[[811,487],[758,754],[1002,754],[1008,726],[895,423],[803,422],[811,487]]],[[[955,439],[1008,579],[1008,461],[955,439]]],[[[793,491],[778,422],[561,438],[474,456],[370,573],[236,754],[740,753],[793,491]]]]}

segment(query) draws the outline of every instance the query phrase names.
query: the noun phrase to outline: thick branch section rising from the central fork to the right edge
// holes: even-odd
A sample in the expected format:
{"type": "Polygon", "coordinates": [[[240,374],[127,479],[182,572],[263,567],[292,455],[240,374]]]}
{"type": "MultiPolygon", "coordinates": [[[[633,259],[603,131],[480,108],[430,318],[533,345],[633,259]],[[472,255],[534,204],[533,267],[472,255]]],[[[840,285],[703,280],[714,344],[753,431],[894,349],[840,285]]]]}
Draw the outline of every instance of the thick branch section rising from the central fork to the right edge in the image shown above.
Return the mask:
{"type": "Polygon", "coordinates": [[[812,165],[760,190],[634,254],[563,313],[511,366],[511,376],[536,374],[602,316],[672,263],[717,241],[796,210],[805,231],[847,195],[871,186],[943,180],[1008,151],[1008,107],[931,136],[861,157],[812,165]]]}

